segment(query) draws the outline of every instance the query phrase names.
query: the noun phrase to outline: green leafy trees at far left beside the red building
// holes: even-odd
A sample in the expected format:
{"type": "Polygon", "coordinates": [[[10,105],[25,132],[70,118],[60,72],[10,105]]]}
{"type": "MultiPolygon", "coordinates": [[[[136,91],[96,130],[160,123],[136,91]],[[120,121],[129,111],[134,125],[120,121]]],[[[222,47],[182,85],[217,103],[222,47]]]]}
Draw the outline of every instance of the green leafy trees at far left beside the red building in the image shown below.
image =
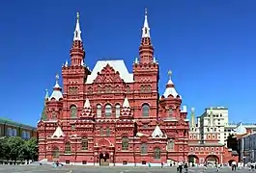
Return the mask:
{"type": "Polygon", "coordinates": [[[19,136],[0,138],[0,160],[6,161],[36,161],[38,157],[38,142],[32,137],[24,140],[19,136]]]}

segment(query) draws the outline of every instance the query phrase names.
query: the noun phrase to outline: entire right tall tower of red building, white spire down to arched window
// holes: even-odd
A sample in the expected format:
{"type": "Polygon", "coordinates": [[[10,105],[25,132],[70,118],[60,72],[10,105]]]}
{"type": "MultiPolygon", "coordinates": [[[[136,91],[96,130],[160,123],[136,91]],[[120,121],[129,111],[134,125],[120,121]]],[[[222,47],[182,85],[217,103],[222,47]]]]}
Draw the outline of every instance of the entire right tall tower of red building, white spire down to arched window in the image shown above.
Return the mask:
{"type": "Polygon", "coordinates": [[[145,11],[144,25],[142,27],[141,43],[139,46],[139,59],[135,59],[132,66],[134,79],[134,100],[138,101],[141,107],[135,107],[133,112],[134,118],[141,121],[147,119],[156,119],[158,113],[158,81],[159,68],[158,63],[154,62],[154,48],[151,43],[150,27],[148,23],[148,13],[145,11]],[[147,100],[147,101],[145,101],[147,100]],[[149,105],[150,103],[150,105],[149,105]],[[148,115],[143,115],[143,108],[150,107],[148,115]]]}

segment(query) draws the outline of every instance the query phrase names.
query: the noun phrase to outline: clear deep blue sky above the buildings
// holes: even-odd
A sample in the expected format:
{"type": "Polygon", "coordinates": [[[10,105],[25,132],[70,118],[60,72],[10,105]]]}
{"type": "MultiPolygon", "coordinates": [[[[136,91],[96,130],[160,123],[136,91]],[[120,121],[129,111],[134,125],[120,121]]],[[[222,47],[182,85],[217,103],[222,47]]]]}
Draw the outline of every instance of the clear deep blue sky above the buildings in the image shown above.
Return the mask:
{"type": "Polygon", "coordinates": [[[160,64],[160,93],[167,71],[197,115],[229,108],[231,121],[255,122],[256,1],[253,0],[23,0],[0,6],[0,116],[36,126],[44,89],[70,59],[80,12],[85,62],[138,56],[144,9],[160,64]]]}

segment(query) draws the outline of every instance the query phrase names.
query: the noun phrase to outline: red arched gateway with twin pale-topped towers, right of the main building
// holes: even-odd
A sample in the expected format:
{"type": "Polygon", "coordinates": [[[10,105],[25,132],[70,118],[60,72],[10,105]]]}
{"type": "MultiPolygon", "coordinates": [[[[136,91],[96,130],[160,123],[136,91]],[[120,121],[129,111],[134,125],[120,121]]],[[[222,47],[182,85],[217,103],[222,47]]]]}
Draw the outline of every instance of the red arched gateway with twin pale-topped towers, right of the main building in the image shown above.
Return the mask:
{"type": "MultiPolygon", "coordinates": [[[[201,164],[205,162],[230,164],[232,161],[239,161],[237,152],[219,143],[220,132],[216,129],[213,121],[213,109],[208,112],[209,116],[207,115],[207,118],[205,118],[207,120],[209,119],[209,121],[205,120],[208,126],[204,129],[200,127],[202,125],[200,120],[196,122],[194,109],[191,110],[190,129],[188,133],[188,161],[201,164]]],[[[227,116],[223,118],[227,118],[227,116]]]]}

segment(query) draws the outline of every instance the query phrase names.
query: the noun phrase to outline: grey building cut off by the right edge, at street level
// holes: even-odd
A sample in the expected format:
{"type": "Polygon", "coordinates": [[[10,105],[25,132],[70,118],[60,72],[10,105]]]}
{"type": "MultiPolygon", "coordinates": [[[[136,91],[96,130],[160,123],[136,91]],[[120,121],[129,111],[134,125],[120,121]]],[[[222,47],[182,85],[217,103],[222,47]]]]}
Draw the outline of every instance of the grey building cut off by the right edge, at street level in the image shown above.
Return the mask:
{"type": "Polygon", "coordinates": [[[256,162],[256,133],[238,139],[241,161],[256,162]]]}

